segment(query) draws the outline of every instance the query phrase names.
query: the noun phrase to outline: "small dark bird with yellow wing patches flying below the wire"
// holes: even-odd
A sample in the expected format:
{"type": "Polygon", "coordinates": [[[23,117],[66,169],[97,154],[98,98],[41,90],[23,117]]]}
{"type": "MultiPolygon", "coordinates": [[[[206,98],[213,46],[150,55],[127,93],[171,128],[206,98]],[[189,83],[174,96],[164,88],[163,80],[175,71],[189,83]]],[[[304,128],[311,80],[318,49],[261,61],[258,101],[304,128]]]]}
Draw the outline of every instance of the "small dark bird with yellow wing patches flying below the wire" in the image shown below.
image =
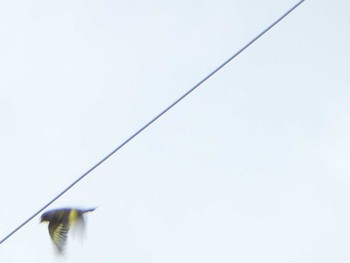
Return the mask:
{"type": "Polygon", "coordinates": [[[76,224],[84,227],[84,214],[95,209],[59,208],[41,215],[40,223],[49,223],[49,234],[59,254],[63,254],[70,228],[76,224]]]}

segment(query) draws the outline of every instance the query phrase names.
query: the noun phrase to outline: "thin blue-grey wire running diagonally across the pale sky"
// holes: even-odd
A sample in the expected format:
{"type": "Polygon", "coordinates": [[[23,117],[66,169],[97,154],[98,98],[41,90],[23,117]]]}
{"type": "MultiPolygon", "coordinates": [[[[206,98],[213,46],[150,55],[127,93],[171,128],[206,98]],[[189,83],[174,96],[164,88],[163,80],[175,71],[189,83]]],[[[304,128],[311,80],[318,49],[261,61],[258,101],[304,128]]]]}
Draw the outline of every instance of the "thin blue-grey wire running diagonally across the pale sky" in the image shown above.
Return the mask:
{"type": "Polygon", "coordinates": [[[152,123],[154,123],[156,120],[158,120],[161,116],[163,116],[167,111],[169,111],[171,108],[173,108],[177,103],[179,103],[182,99],[187,97],[192,91],[197,89],[200,85],[202,85],[205,81],[207,81],[210,77],[212,77],[215,73],[217,73],[220,69],[222,69],[226,64],[228,64],[230,61],[232,61],[234,58],[236,58],[239,54],[241,54],[246,48],[248,48],[251,44],[253,44],[256,40],[258,40],[261,36],[263,36],[267,31],[269,31],[271,28],[273,28],[275,25],[277,25],[282,19],[284,19],[286,16],[288,16],[294,9],[296,9],[300,4],[302,4],[305,0],[301,0],[296,5],[294,5],[292,8],[290,8],[287,12],[285,12],[280,18],[278,18],[275,22],[273,22],[270,26],[268,26],[266,29],[264,29],[260,34],[258,34],[255,38],[253,38],[251,41],[249,41],[245,46],[243,46],[240,50],[238,50],[234,55],[232,55],[229,59],[227,59],[224,63],[222,63],[220,66],[218,66],[216,69],[214,69],[210,74],[208,74],[205,78],[203,78],[201,81],[199,81],[194,87],[192,87],[190,90],[188,90],[185,94],[183,94],[180,98],[178,98],[176,101],[174,101],[171,105],[169,105],[166,109],[164,109],[162,112],[160,112],[157,116],[155,116],[152,120],[150,120],[148,123],[146,123],[143,127],[141,127],[138,131],[136,131],[133,135],[131,135],[127,140],[125,140],[122,144],[120,144],[118,147],[116,147],[112,152],[110,152],[108,155],[106,155],[102,160],[100,160],[98,163],[96,163],[93,167],[91,167],[88,171],[86,171],[83,175],[81,175],[78,179],[76,179],[73,183],[71,183],[68,187],[66,187],[61,193],[59,193],[57,196],[55,196],[50,202],[48,202],[46,205],[44,205],[42,208],[40,208],[37,212],[35,212],[31,217],[29,217],[27,220],[25,220],[22,224],[20,224],[17,228],[15,228],[10,234],[5,236],[1,241],[0,245],[6,241],[9,237],[11,237],[13,234],[15,234],[18,230],[20,230],[23,226],[25,226],[27,223],[29,223],[34,217],[36,217],[38,214],[40,214],[44,209],[46,209],[48,206],[50,206],[53,202],[55,202],[58,198],[60,198],[62,195],[64,195],[69,189],[71,189],[73,186],[75,186],[80,180],[82,180],[85,176],[87,176],[89,173],[91,173],[93,170],[95,170],[98,166],[100,166],[103,162],[105,162],[109,157],[111,157],[113,154],[115,154],[117,151],[119,151],[122,147],[124,147],[128,142],[130,142],[132,139],[134,139],[137,135],[139,135],[141,132],[143,132],[148,126],[150,126],[152,123]]]}

